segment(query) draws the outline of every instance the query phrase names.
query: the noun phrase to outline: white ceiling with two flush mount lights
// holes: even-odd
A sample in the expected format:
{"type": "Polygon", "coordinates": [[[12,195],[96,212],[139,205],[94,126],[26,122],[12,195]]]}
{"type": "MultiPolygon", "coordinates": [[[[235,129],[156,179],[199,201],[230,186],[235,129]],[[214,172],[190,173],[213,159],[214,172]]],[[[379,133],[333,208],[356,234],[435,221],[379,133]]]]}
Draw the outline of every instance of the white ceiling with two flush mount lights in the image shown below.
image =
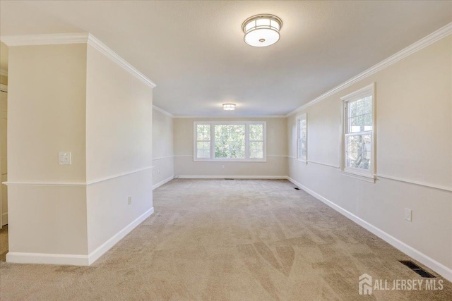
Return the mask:
{"type": "Polygon", "coordinates": [[[451,21],[452,1],[0,2],[0,35],[90,32],[191,116],[284,115],[451,21]],[[258,13],[283,19],[273,46],[243,42],[258,13]]]}

